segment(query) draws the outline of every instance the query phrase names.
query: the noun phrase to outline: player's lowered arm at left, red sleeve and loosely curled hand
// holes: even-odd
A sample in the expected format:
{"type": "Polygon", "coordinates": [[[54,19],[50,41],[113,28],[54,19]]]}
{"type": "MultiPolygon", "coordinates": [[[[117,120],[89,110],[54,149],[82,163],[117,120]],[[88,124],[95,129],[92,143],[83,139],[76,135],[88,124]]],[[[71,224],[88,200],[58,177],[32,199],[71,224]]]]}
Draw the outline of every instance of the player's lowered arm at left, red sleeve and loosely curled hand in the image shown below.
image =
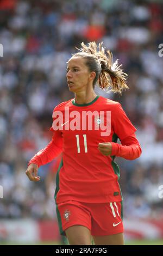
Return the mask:
{"type": "Polygon", "coordinates": [[[31,181],[39,181],[40,177],[37,172],[40,166],[51,162],[62,152],[61,132],[55,131],[52,141],[42,150],[40,150],[28,163],[26,175],[31,181]]]}

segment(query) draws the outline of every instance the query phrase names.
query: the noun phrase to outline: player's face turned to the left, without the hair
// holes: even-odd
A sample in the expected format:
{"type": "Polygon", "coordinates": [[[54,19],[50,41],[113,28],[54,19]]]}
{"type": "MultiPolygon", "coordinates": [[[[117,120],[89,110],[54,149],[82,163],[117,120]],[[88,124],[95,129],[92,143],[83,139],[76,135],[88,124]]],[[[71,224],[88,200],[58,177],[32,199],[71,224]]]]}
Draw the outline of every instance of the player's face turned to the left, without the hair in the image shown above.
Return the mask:
{"type": "Polygon", "coordinates": [[[67,65],[67,83],[73,93],[83,92],[91,83],[91,73],[82,57],[72,57],[67,65]]]}

